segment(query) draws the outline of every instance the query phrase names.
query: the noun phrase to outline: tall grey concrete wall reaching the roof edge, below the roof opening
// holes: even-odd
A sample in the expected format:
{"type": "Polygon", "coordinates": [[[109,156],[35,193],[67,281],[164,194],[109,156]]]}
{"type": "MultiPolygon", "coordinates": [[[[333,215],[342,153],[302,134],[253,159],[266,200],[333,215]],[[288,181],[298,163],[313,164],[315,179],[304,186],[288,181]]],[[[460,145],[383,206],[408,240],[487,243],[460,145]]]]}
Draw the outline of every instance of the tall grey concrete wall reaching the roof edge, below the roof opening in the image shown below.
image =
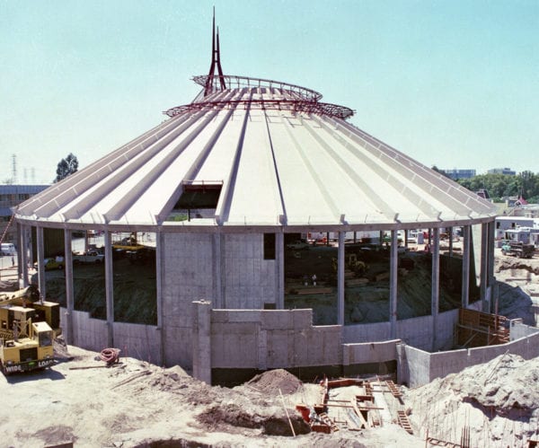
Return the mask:
{"type": "Polygon", "coordinates": [[[262,233],[163,233],[162,238],[164,363],[190,369],[192,302],[263,309],[264,303],[276,302],[277,265],[263,259],[262,233]]]}

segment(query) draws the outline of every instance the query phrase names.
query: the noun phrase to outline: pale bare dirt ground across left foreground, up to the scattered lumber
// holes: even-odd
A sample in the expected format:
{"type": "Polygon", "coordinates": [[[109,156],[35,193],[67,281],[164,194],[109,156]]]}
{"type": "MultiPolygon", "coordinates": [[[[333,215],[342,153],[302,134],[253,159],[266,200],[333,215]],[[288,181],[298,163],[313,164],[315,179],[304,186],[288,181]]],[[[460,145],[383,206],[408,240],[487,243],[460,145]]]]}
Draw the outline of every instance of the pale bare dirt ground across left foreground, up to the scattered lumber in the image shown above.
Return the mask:
{"type": "Polygon", "coordinates": [[[283,370],[226,389],[180,367],[133,358],[104,367],[96,353],[58,347],[49,370],[0,376],[1,446],[413,446],[397,426],[332,435],[309,433],[296,403],[319,402],[320,385],[283,370]],[[280,391],[280,392],[279,392],[280,391]],[[282,398],[280,393],[282,393],[282,398]],[[296,437],[292,435],[290,423],[296,437]]]}

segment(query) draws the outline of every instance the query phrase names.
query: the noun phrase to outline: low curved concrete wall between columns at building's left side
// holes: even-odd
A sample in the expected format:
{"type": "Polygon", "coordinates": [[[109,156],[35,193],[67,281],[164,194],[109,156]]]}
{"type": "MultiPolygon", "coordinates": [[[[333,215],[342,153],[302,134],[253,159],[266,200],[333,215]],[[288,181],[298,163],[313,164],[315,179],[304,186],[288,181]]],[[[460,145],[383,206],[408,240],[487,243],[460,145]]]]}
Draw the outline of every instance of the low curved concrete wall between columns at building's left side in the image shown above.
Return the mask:
{"type": "MultiPolygon", "coordinates": [[[[60,313],[60,326],[66,328],[66,309],[60,313]]],[[[73,312],[74,343],[77,347],[101,352],[108,347],[107,322],[93,319],[88,312],[73,312]]],[[[162,364],[161,335],[151,325],[114,322],[114,347],[121,350],[121,355],[148,361],[155,365],[162,364]]]]}

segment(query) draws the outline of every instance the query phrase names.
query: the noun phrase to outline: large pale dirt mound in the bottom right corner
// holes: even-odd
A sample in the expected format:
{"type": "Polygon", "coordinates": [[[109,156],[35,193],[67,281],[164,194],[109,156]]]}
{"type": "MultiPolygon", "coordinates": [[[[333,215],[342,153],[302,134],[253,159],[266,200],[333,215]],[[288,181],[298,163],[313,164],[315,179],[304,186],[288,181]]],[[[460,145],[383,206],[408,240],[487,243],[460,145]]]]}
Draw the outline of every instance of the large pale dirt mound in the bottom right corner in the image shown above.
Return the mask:
{"type": "Polygon", "coordinates": [[[503,355],[406,393],[411,422],[458,443],[470,427],[472,446],[517,446],[539,430],[539,359],[503,355]]]}

